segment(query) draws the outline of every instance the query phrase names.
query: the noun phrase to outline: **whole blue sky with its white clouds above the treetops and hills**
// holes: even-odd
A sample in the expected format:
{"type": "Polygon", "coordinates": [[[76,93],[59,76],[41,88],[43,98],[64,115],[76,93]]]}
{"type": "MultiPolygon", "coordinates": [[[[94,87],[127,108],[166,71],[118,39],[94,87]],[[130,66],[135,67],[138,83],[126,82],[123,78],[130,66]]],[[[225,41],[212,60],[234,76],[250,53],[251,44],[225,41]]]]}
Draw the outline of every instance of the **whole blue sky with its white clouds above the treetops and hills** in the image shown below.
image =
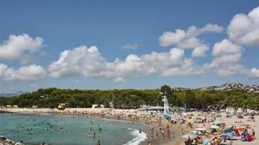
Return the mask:
{"type": "Polygon", "coordinates": [[[258,6],[1,0],[0,91],[258,85],[258,6]]]}

